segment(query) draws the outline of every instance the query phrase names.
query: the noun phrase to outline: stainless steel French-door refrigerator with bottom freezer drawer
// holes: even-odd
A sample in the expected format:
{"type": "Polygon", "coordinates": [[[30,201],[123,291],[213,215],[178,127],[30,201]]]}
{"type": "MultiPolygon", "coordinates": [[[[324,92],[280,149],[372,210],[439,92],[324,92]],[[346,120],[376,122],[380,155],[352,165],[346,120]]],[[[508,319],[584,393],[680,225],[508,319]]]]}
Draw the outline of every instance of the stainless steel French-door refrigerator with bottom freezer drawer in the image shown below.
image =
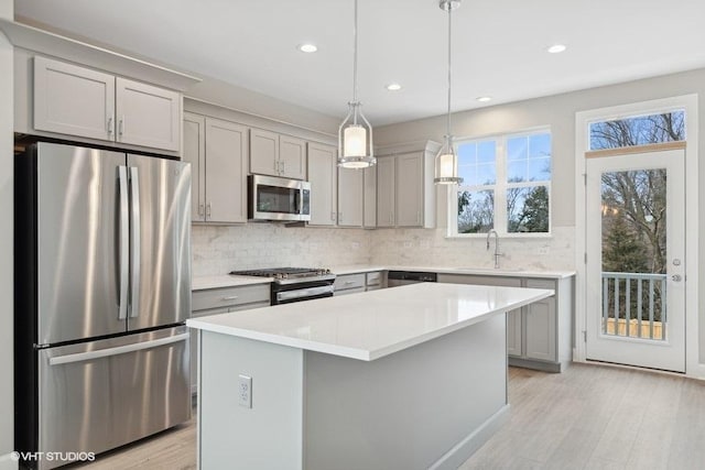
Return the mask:
{"type": "Polygon", "coordinates": [[[15,156],[15,449],[55,452],[24,466],[189,419],[189,208],[182,162],[48,142],[15,156]]]}

